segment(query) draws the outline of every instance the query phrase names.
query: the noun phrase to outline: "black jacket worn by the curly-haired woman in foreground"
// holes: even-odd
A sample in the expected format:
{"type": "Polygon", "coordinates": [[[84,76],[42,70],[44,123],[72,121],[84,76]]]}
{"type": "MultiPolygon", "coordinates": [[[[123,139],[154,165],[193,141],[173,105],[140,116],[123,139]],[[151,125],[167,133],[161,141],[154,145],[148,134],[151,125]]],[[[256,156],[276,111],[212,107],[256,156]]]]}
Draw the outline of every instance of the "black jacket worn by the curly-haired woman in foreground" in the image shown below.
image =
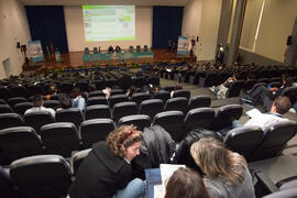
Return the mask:
{"type": "Polygon", "coordinates": [[[108,198],[132,179],[131,165],[98,142],[78,168],[70,198],[108,198]]]}

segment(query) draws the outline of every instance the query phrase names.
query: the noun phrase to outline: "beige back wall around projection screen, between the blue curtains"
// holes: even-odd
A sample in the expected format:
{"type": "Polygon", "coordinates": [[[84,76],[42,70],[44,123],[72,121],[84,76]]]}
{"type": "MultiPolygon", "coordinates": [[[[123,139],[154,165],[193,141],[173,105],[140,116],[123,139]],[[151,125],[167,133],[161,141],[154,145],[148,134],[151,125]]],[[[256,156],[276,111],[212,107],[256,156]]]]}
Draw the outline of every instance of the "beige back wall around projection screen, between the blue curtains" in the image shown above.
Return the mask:
{"type": "Polygon", "coordinates": [[[100,46],[107,50],[110,45],[119,45],[121,48],[129,48],[130,45],[152,46],[152,26],[153,26],[153,9],[152,7],[136,7],[135,10],[135,41],[109,41],[109,42],[86,42],[82,20],[81,7],[67,6],[64,7],[66,32],[69,52],[81,52],[85,47],[92,50],[100,46]]]}

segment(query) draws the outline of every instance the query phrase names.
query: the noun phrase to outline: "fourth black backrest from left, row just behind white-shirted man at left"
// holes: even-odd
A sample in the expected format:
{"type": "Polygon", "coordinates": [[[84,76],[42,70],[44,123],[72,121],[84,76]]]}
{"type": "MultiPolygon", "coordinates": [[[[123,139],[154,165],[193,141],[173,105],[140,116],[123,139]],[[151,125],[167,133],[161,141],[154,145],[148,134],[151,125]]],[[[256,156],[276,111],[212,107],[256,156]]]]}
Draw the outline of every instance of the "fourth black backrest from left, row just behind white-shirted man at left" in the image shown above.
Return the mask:
{"type": "Polygon", "coordinates": [[[86,120],[100,119],[100,118],[111,118],[111,112],[109,106],[107,105],[96,105],[86,108],[85,112],[86,120]]]}

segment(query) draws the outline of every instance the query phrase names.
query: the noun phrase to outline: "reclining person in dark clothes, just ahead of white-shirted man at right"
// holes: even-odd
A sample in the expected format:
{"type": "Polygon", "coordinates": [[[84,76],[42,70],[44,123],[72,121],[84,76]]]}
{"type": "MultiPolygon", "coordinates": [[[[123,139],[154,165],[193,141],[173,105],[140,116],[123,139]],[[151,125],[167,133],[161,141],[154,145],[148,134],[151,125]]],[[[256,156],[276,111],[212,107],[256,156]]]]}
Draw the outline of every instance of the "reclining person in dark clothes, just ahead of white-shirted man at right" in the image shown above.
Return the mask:
{"type": "Polygon", "coordinates": [[[277,88],[271,86],[260,86],[252,90],[248,97],[242,98],[242,100],[252,106],[254,106],[257,101],[261,101],[263,103],[263,108],[268,111],[272,107],[273,100],[280,96],[285,88],[292,86],[293,80],[286,73],[282,75],[282,87],[277,88]]]}

